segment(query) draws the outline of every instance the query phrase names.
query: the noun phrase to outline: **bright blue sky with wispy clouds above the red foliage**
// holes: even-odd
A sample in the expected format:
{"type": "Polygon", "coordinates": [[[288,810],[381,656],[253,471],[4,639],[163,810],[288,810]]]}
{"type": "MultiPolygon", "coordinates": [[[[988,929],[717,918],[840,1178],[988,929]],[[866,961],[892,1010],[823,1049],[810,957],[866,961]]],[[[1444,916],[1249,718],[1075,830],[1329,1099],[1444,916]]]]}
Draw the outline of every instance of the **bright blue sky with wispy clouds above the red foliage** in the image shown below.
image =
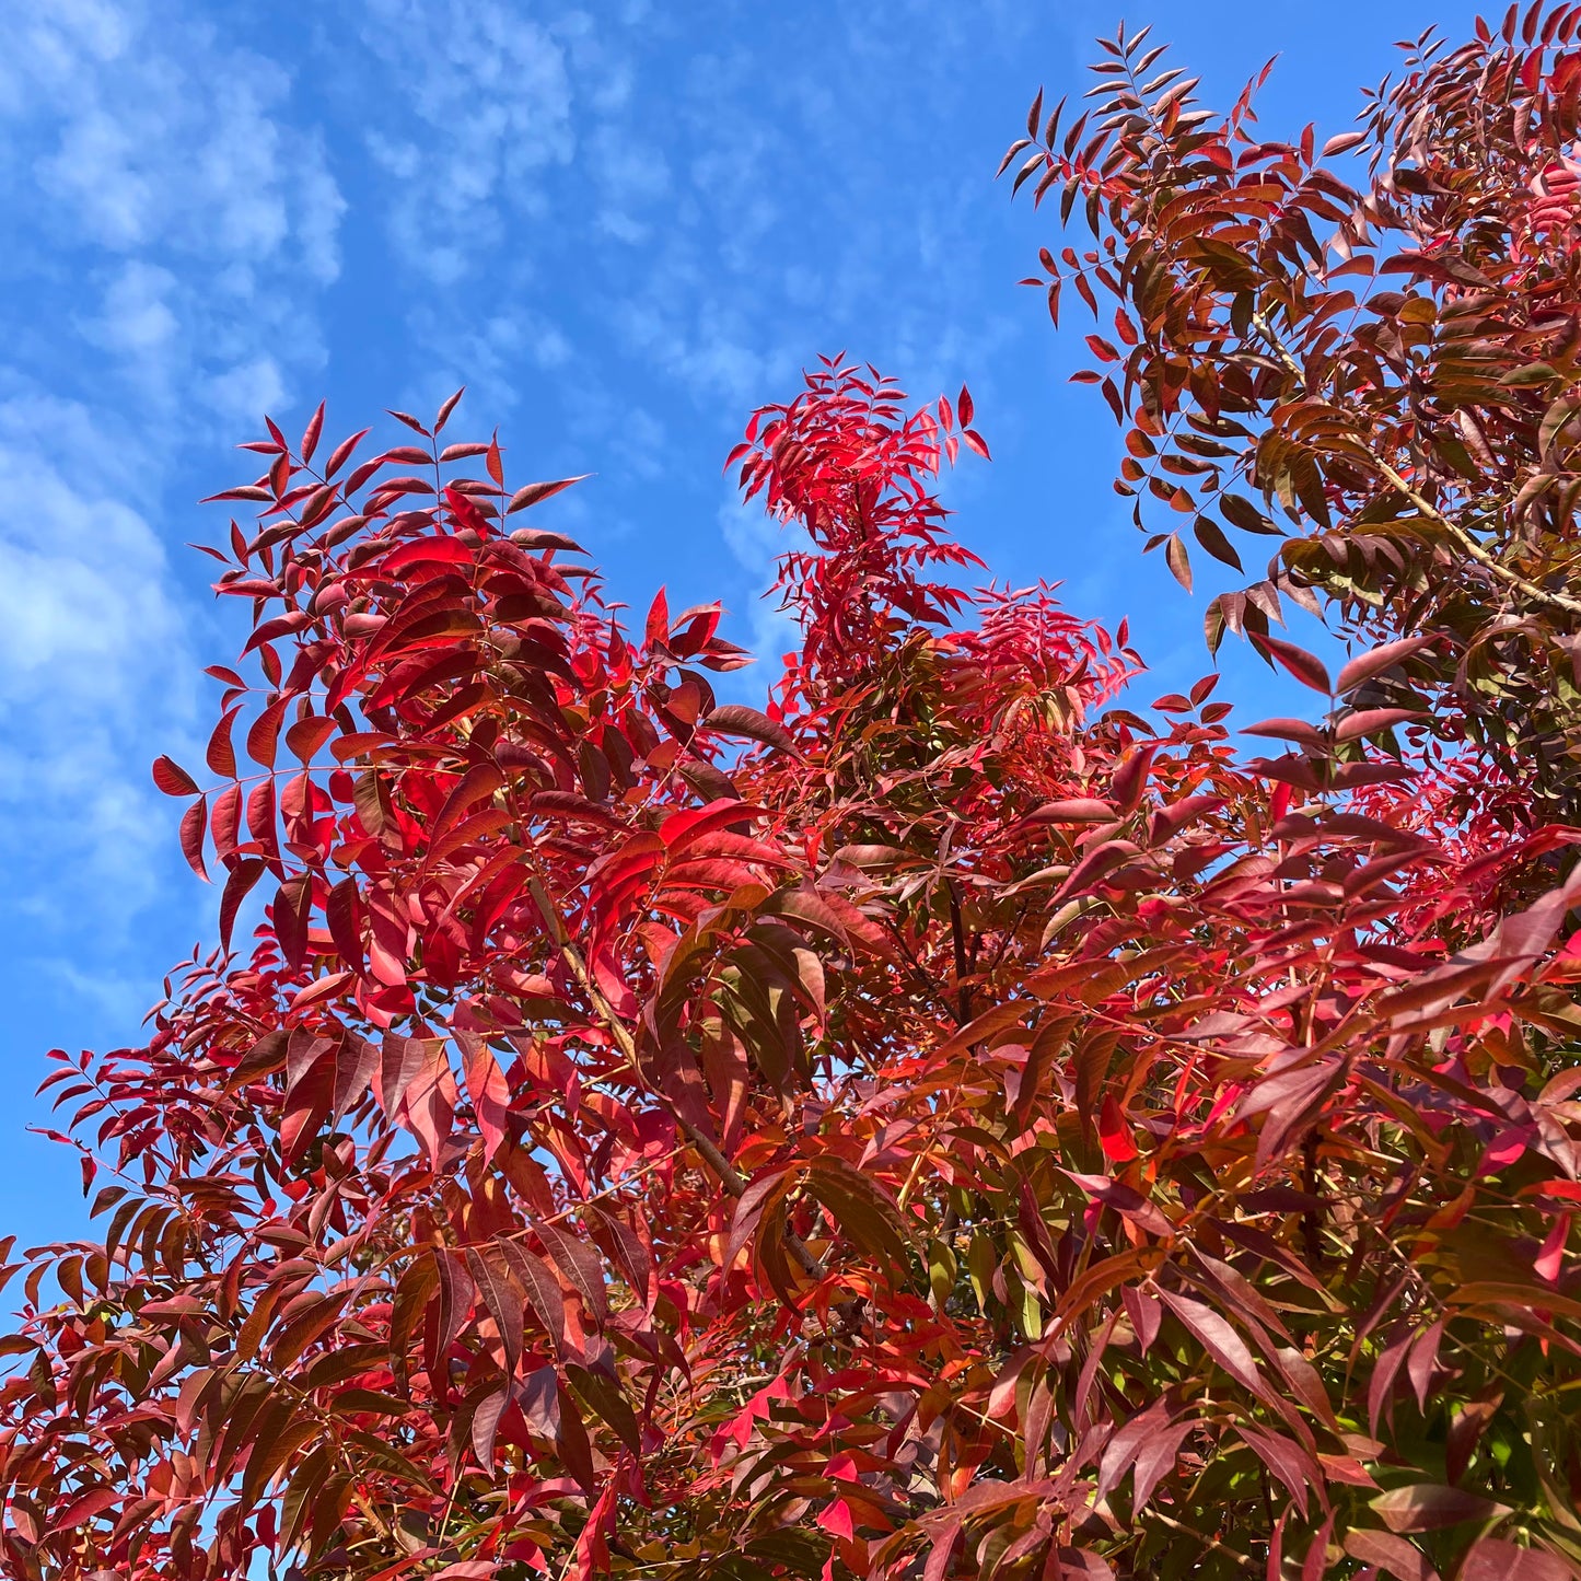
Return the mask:
{"type": "MultiPolygon", "coordinates": [[[[991,179],[1119,14],[0,0],[0,1233],[82,1217],[71,1156],[24,1132],[44,1050],[134,1042],[212,936],[147,765],[201,760],[201,670],[239,639],[183,544],[223,530],[193,501],[266,409],[299,432],[326,395],[338,438],[465,383],[457,436],[498,424],[523,479],[598,474],[545,511],[617,596],[724,598],[778,651],[773,531],[719,471],[748,411],[843,348],[917,397],[964,379],[994,462],[947,481],[961,536],[1129,615],[1157,692],[1203,674],[1202,590],[1140,558],[1108,414],[1066,384],[1080,313],[1056,338],[1015,286],[1050,218],[991,179]]],[[[1270,134],[1344,130],[1394,38],[1472,16],[1151,5],[1211,104],[1281,55],[1270,134]]],[[[1304,707],[1244,650],[1225,670],[1247,719],[1304,707]]]]}

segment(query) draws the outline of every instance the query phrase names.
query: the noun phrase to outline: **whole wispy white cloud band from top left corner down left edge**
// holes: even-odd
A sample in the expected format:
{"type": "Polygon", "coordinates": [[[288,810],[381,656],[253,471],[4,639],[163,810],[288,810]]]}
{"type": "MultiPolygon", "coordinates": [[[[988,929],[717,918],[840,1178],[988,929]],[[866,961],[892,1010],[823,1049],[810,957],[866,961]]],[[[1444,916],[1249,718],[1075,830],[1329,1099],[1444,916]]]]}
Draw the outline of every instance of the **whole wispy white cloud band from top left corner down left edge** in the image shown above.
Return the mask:
{"type": "Polygon", "coordinates": [[[147,762],[196,729],[168,492],[324,357],[345,202],[291,93],[182,0],[0,0],[0,849],[24,955],[106,980],[174,871],[147,762]]]}

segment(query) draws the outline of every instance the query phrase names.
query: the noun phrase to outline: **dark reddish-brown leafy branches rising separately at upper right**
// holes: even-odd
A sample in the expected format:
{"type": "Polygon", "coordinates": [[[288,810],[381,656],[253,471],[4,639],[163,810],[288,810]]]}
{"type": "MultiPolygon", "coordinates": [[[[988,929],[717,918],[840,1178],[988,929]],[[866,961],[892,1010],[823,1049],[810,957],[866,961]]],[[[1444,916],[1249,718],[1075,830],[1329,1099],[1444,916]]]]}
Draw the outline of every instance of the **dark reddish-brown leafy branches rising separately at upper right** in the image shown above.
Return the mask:
{"type": "Polygon", "coordinates": [[[1518,803],[1581,822],[1581,8],[1424,35],[1322,147],[1255,136],[1257,84],[1197,108],[1145,32],[1104,44],[1086,114],[1039,96],[1001,171],[1085,215],[1092,245],[1043,248],[1028,283],[1097,319],[1078,378],[1126,428],[1146,547],[1189,590],[1187,536],[1235,571],[1243,534],[1279,541],[1209,604],[1213,648],[1282,599],[1448,634],[1423,672],[1442,711],[1518,803]]]}

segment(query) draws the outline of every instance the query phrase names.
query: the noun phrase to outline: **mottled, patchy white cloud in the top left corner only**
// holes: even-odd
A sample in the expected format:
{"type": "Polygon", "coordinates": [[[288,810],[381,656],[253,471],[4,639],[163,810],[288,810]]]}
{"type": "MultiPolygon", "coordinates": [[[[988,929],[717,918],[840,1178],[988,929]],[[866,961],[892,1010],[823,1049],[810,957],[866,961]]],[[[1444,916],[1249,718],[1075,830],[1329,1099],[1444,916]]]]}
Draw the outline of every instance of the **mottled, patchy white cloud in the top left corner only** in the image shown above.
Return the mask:
{"type": "MultiPolygon", "coordinates": [[[[338,272],[345,202],[318,134],[286,115],[289,76],[180,0],[0,17],[0,199],[40,258],[104,281],[84,337],[144,400],[212,397],[228,422],[259,357],[318,362],[302,305],[338,272]]],[[[286,383],[253,387],[278,400],[286,383]]]]}

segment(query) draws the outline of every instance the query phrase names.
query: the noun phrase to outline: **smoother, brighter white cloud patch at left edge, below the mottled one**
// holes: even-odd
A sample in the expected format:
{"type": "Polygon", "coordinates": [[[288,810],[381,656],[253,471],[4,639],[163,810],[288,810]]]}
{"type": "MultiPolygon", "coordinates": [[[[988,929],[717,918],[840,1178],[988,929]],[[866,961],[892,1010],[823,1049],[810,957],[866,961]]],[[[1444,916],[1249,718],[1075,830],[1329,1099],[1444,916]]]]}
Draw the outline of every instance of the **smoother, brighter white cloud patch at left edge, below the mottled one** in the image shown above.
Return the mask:
{"type": "Polygon", "coordinates": [[[81,403],[36,389],[0,402],[9,904],[95,934],[155,898],[169,830],[133,765],[150,727],[172,740],[191,715],[183,618],[158,534],[126,501],[122,454],[81,403]]]}

